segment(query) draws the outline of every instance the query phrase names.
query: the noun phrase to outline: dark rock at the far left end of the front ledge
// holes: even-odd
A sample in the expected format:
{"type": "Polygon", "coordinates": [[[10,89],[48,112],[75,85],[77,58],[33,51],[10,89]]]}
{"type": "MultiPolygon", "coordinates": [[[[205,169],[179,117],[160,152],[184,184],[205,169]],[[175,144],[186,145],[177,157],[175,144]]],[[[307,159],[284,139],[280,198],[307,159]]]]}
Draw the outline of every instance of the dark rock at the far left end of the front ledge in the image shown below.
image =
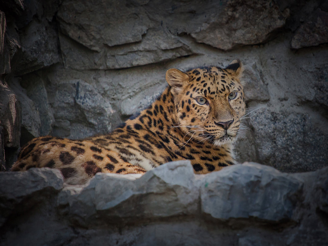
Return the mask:
{"type": "Polygon", "coordinates": [[[57,169],[0,172],[0,179],[0,226],[9,215],[29,211],[33,205],[49,199],[63,188],[63,175],[57,169]]]}

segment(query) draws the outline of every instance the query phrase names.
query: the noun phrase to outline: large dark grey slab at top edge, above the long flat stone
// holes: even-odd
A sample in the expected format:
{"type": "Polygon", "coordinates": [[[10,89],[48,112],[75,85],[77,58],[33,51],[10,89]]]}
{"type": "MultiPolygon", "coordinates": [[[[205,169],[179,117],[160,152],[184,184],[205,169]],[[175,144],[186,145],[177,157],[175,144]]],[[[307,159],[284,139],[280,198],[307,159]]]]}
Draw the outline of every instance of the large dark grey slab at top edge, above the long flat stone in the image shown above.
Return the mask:
{"type": "Polygon", "coordinates": [[[57,16],[64,34],[98,52],[104,44],[140,42],[150,22],[143,8],[127,1],[64,1],[57,16]]]}

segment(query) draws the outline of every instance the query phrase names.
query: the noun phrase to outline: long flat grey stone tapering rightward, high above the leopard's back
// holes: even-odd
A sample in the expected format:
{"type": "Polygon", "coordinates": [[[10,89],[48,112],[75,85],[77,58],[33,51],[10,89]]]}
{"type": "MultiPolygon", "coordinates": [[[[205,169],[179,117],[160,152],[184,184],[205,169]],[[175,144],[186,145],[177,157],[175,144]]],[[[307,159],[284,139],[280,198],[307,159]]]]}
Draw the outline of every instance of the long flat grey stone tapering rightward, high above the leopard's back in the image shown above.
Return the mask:
{"type": "Polygon", "coordinates": [[[60,46],[66,67],[72,69],[117,69],[140,66],[192,54],[178,37],[163,30],[149,30],[141,42],[122,46],[104,46],[99,52],[78,45],[60,34],[60,46]]]}

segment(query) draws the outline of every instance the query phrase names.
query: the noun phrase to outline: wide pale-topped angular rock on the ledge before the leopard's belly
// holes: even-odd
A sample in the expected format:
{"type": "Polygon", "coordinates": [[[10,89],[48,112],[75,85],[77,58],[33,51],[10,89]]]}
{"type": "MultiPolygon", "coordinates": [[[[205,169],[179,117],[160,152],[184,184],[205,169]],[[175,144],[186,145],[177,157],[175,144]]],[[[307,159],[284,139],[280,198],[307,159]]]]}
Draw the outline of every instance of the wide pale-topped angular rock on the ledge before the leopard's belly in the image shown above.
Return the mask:
{"type": "Polygon", "coordinates": [[[141,177],[98,173],[83,188],[64,189],[58,204],[80,225],[191,215],[198,209],[193,179],[189,161],[163,164],[141,177]]]}

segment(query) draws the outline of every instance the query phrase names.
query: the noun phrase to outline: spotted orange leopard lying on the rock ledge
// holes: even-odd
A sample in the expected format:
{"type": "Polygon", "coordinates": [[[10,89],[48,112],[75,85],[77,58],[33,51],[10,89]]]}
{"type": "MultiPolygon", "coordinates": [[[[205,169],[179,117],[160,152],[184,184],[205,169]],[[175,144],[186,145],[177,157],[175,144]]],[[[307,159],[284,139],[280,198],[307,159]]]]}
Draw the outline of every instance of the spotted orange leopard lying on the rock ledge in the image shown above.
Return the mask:
{"type": "Polygon", "coordinates": [[[171,68],[166,89],[148,108],[113,131],[84,139],[40,136],[21,148],[11,171],[59,169],[68,184],[96,173],[144,174],[189,160],[195,174],[236,164],[234,144],[246,112],[239,59],[225,68],[171,68]]]}

